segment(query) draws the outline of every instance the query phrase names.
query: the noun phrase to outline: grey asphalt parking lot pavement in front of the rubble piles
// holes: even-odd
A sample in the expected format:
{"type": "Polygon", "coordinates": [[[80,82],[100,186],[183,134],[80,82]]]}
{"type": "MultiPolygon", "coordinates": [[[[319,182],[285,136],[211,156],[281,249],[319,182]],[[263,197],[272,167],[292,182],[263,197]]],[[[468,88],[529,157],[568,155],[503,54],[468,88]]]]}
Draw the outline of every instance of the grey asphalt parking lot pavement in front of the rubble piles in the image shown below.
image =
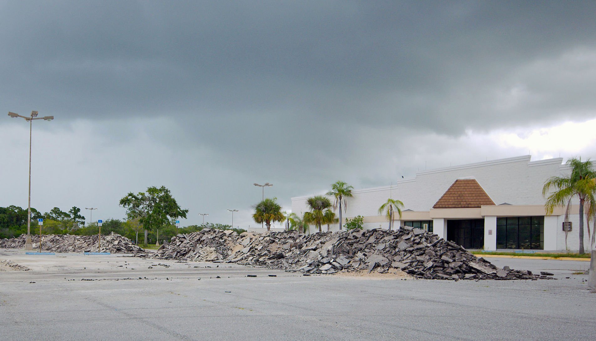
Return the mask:
{"type": "Polygon", "coordinates": [[[440,281],[0,249],[3,259],[30,270],[0,272],[0,340],[569,340],[596,325],[581,261],[491,258],[558,279],[440,281]]]}

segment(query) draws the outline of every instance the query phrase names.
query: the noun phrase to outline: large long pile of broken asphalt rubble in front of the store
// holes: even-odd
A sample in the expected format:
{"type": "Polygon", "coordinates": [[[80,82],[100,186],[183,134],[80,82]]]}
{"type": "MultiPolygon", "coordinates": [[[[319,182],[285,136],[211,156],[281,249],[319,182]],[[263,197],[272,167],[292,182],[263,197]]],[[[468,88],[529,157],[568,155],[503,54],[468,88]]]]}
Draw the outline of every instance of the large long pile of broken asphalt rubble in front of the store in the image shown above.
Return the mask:
{"type": "Polygon", "coordinates": [[[427,279],[532,280],[551,278],[530,271],[496,268],[463,247],[418,228],[238,235],[205,229],[179,234],[153,256],[157,259],[213,261],[266,266],[308,274],[399,269],[427,279]]]}

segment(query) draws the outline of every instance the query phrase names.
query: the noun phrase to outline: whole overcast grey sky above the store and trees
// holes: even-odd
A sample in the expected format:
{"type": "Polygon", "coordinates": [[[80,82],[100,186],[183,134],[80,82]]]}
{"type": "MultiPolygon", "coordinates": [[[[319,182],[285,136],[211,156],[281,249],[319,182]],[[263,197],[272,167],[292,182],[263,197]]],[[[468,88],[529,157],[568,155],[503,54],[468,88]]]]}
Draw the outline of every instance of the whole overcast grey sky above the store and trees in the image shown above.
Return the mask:
{"type": "MultiPolygon", "coordinates": [[[[164,185],[182,225],[531,154],[596,156],[594,1],[0,1],[0,206],[164,185]],[[4,118],[2,118],[4,117],[4,118]]],[[[89,211],[85,212],[89,218],[89,211]]]]}

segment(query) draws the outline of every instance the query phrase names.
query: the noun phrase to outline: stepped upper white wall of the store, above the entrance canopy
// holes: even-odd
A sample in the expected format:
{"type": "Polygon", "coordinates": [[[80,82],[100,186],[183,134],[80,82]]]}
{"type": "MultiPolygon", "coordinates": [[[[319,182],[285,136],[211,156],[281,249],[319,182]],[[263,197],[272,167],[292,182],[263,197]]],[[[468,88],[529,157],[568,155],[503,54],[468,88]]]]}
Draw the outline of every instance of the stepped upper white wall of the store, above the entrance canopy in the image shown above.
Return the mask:
{"type": "MultiPolygon", "coordinates": [[[[347,198],[344,217],[378,215],[378,207],[391,196],[404,204],[404,209],[427,211],[458,178],[475,178],[495,204],[541,205],[542,185],[554,175],[569,170],[563,159],[530,161],[530,156],[512,157],[471,165],[418,172],[414,179],[402,180],[390,186],[353,190],[347,198]]],[[[307,212],[309,196],[293,197],[292,212],[307,212]]],[[[333,200],[333,198],[330,198],[333,200]]]]}

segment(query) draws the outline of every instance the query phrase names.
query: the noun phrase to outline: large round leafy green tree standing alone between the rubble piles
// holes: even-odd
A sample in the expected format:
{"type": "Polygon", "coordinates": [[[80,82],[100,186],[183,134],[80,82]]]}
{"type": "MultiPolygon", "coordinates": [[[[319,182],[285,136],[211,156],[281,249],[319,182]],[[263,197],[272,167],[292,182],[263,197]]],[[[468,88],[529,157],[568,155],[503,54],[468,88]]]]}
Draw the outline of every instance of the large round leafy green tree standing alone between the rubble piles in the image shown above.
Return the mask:
{"type": "Polygon", "coordinates": [[[188,213],[178,206],[170,190],[164,186],[149,187],[146,193],[128,193],[120,199],[120,206],[126,208],[126,218],[138,219],[145,228],[145,245],[148,230],[157,231],[163,225],[172,225],[177,218],[186,218],[188,213]]]}

